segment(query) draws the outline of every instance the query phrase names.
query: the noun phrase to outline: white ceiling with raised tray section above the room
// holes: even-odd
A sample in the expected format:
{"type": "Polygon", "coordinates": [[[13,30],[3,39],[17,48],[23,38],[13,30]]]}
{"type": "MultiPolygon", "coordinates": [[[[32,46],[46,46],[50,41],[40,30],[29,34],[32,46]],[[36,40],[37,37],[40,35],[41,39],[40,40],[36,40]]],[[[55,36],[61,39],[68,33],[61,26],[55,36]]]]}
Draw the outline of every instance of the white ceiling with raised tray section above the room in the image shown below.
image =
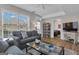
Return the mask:
{"type": "Polygon", "coordinates": [[[42,18],[79,15],[78,4],[14,4],[14,6],[40,15],[42,18]]]}

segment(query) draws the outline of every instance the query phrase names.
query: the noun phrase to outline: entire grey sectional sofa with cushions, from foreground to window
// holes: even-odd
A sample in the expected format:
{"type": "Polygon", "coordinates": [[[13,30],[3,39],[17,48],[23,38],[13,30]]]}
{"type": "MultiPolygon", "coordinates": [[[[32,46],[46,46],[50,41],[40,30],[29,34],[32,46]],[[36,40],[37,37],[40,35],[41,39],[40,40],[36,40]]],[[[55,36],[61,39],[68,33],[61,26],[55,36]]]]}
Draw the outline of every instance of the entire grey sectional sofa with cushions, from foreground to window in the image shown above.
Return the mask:
{"type": "Polygon", "coordinates": [[[0,40],[0,54],[24,55],[26,52],[23,52],[22,49],[26,48],[26,43],[41,39],[37,31],[29,31],[24,35],[21,31],[14,31],[11,35],[13,40],[0,40]]]}

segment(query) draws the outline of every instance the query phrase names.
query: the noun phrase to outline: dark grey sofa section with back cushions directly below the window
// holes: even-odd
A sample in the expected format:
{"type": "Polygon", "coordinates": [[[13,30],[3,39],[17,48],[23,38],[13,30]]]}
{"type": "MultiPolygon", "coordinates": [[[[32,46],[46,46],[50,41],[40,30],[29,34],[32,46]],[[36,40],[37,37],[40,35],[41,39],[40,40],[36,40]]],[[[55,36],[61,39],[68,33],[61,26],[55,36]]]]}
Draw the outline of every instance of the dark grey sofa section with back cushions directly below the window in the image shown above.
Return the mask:
{"type": "Polygon", "coordinates": [[[17,46],[20,49],[24,49],[26,47],[26,43],[33,42],[35,39],[41,40],[41,35],[37,33],[37,31],[28,31],[25,35],[21,31],[14,31],[12,33],[12,37],[15,39],[17,46]],[[23,37],[25,36],[25,37],[23,37]],[[16,38],[17,37],[17,38],[16,38]]]}

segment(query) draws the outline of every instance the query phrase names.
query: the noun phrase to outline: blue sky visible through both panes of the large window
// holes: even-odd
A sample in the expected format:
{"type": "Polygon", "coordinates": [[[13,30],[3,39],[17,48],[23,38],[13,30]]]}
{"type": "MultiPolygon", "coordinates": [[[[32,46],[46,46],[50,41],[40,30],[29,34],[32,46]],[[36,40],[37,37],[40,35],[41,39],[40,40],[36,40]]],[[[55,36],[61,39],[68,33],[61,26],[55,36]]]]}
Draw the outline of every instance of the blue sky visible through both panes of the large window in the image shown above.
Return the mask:
{"type": "MultiPolygon", "coordinates": [[[[3,16],[4,16],[4,22],[5,23],[10,23],[13,20],[13,18],[16,17],[16,14],[12,13],[12,12],[4,12],[3,16]]],[[[27,16],[19,16],[19,21],[21,23],[27,23],[27,20],[28,20],[27,16]]]]}

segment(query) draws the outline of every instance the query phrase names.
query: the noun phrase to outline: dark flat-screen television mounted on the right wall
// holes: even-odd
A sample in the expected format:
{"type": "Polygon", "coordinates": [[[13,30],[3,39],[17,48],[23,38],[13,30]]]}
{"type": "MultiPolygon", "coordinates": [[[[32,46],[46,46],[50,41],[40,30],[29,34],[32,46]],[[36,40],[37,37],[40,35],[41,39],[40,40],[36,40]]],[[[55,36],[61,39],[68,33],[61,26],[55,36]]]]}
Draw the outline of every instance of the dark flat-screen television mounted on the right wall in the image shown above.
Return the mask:
{"type": "Polygon", "coordinates": [[[63,23],[63,30],[65,30],[65,31],[77,31],[78,30],[78,22],[63,23]]]}

